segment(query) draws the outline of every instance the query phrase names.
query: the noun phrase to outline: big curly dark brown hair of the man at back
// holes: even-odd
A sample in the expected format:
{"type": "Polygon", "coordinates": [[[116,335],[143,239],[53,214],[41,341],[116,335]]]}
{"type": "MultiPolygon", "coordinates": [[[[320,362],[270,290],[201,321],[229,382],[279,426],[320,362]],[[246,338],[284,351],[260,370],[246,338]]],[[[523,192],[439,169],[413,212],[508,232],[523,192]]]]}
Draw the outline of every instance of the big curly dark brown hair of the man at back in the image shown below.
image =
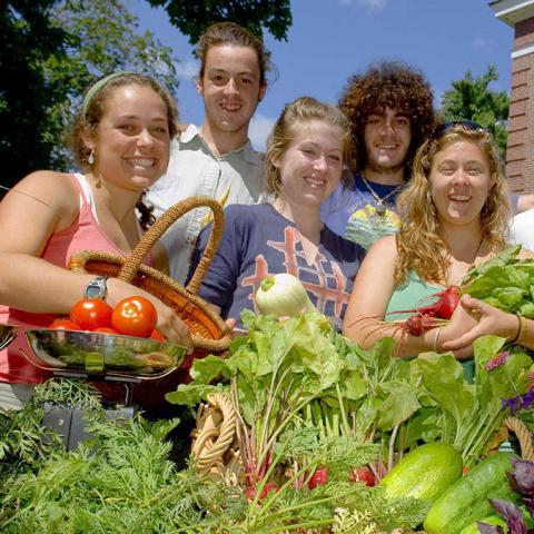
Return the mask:
{"type": "Polygon", "coordinates": [[[338,106],[352,125],[356,171],[362,171],[366,164],[367,117],[385,108],[397,108],[406,112],[411,123],[412,142],[405,166],[409,175],[417,148],[435,129],[433,100],[434,93],[423,72],[403,61],[372,63],[363,75],[352,76],[338,106]]]}

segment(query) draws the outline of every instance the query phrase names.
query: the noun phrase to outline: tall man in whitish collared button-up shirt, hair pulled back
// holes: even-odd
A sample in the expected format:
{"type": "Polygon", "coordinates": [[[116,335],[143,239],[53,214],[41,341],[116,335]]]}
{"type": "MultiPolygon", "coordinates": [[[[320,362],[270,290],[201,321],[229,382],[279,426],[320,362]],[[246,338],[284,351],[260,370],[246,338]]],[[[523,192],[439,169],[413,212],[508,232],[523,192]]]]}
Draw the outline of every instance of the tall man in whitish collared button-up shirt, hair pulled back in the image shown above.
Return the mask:
{"type": "MultiPolygon", "coordinates": [[[[226,206],[257,202],[263,192],[261,155],[248,139],[248,127],[267,89],[269,53],[260,39],[233,22],[210,26],[200,38],[197,90],[204,99],[205,119],[189,125],[171,145],[167,174],[148,191],[158,217],[185,198],[205,195],[226,206]]],[[[209,210],[196,209],[164,236],[169,271],[184,284],[198,233],[209,210]]]]}

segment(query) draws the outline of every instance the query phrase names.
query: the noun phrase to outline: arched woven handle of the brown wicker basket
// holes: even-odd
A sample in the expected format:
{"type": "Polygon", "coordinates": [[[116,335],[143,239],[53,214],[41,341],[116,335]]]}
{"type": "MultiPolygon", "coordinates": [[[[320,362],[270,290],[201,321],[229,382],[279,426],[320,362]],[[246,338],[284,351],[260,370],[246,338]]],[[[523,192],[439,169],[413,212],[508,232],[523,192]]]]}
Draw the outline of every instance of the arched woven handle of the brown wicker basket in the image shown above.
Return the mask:
{"type": "Polygon", "coordinates": [[[195,208],[208,207],[214,214],[214,226],[211,227],[211,234],[209,236],[208,244],[204,250],[204,255],[195,269],[191,280],[186,286],[186,289],[192,294],[197,294],[200,285],[202,284],[206,271],[208,270],[217,248],[219,246],[220,238],[222,236],[225,215],[222,207],[217,200],[210,197],[189,197],[181,200],[169,209],[167,209],[156,222],[144,234],[136,248],[126,258],[125,264],[120,268],[117,277],[123,281],[132,283],[142,260],[149,254],[155,243],[167,231],[167,229],[176,222],[180,217],[195,208]]]}

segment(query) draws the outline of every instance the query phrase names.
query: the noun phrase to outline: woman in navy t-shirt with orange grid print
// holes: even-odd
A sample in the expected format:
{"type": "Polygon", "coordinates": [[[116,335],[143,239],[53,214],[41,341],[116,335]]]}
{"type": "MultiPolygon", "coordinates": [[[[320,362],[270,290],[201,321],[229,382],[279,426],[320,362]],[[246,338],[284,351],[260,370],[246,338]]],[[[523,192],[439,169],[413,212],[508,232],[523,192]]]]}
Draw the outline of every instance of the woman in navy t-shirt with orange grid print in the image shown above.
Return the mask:
{"type": "MultiPolygon", "coordinates": [[[[335,107],[309,97],[285,107],[265,157],[270,201],[225,209],[222,239],[200,289],[224,318],[236,319],[239,327],[243,309],[257,310],[254,296],[261,280],[288,273],[340,328],[365,251],[324,225],[320,205],[342,176],[349,176],[352,142],[349,123],[335,107]]],[[[199,236],[191,269],[209,231],[199,236]]]]}

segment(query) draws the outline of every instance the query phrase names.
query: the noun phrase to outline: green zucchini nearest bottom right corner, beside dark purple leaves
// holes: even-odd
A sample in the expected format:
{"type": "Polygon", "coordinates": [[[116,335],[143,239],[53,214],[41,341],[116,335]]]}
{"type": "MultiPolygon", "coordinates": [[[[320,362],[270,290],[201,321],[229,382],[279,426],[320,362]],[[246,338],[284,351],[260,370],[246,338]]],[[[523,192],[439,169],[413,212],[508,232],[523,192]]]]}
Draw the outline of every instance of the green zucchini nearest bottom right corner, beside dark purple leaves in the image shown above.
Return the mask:
{"type": "Polygon", "coordinates": [[[490,498],[516,501],[506,472],[512,471],[510,453],[497,453],[475,465],[431,506],[423,523],[427,534],[459,534],[475,521],[491,515],[490,498]]]}

